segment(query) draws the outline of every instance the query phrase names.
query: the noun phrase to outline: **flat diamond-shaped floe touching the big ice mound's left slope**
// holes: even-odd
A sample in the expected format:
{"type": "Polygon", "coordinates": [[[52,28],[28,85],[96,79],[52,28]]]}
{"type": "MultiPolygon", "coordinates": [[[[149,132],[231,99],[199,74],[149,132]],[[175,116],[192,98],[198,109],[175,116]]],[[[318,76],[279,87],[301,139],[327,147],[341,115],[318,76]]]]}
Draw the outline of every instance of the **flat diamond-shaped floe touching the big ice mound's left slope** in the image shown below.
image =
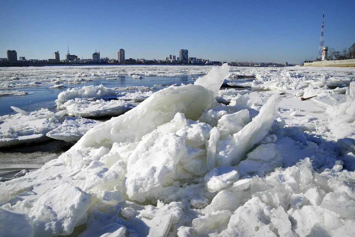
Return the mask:
{"type": "Polygon", "coordinates": [[[81,117],[65,117],[64,122],[46,136],[66,142],[78,141],[87,131],[102,122],[81,117]]]}

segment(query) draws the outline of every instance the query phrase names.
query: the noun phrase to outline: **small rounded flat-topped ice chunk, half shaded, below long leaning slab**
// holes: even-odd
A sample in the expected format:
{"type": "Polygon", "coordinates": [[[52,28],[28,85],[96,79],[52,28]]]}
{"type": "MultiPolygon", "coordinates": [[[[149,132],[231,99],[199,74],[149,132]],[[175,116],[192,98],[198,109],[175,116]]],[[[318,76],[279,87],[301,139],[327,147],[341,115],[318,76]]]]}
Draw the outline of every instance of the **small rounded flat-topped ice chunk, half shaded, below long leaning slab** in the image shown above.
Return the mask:
{"type": "Polygon", "coordinates": [[[239,173],[231,166],[216,167],[204,177],[205,187],[208,192],[214,193],[238,181],[239,173]]]}

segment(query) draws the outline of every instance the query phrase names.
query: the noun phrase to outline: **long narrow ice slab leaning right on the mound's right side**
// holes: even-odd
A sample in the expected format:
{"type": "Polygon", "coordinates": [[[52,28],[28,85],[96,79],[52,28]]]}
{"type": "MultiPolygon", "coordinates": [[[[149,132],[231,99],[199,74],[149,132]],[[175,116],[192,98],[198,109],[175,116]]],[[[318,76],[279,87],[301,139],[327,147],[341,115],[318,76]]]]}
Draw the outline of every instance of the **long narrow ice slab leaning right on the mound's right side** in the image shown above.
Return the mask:
{"type": "Polygon", "coordinates": [[[277,117],[280,100],[281,96],[278,94],[271,96],[252,122],[234,134],[232,139],[219,142],[219,166],[238,164],[245,153],[264,138],[277,117]]]}

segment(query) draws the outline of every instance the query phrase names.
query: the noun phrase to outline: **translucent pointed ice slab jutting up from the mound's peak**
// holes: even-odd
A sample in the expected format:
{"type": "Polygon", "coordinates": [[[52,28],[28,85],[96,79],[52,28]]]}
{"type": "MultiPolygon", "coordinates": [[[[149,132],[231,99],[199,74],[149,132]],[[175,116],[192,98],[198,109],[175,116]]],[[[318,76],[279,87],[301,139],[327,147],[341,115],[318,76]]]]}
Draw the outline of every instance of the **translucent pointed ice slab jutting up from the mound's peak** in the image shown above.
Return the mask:
{"type": "Polygon", "coordinates": [[[223,81],[227,76],[228,72],[228,63],[223,64],[221,67],[214,67],[211,69],[211,71],[208,72],[207,75],[199,77],[195,81],[195,85],[200,85],[205,88],[208,88],[209,90],[212,90],[214,93],[214,97],[216,97],[218,96],[219,88],[223,84],[223,81]]]}

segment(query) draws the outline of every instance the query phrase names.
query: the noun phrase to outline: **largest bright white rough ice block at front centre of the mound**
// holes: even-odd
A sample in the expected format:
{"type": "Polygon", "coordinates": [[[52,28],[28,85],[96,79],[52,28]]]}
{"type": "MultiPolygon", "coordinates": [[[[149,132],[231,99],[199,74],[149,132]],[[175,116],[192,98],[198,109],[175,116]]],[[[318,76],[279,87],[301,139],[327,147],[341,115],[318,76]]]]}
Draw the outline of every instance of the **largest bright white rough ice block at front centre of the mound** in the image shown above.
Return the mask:
{"type": "Polygon", "coordinates": [[[129,198],[144,201],[146,196],[156,194],[163,185],[172,183],[177,164],[186,151],[185,139],[173,133],[153,131],[144,136],[127,163],[129,198]]]}

